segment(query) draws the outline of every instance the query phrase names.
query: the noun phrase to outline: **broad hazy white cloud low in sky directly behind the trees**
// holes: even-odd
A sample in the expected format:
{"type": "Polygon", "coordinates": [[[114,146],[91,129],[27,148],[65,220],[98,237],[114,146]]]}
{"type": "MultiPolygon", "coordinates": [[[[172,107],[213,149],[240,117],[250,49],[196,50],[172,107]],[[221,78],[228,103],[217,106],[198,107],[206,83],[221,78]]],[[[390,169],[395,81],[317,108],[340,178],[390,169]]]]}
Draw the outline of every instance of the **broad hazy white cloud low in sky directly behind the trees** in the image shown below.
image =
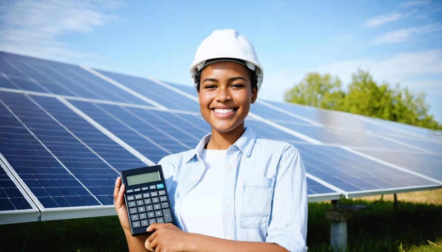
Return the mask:
{"type": "MultiPolygon", "coordinates": [[[[296,69],[296,68],[293,68],[296,69]]],[[[413,92],[423,92],[430,104],[430,114],[442,122],[442,50],[398,53],[385,59],[364,58],[335,62],[310,69],[269,70],[259,91],[259,97],[266,100],[282,101],[285,91],[301,81],[306,73],[318,72],[338,76],[343,88],[351,82],[352,74],[358,69],[369,71],[373,79],[391,86],[408,87],[413,92]]]]}

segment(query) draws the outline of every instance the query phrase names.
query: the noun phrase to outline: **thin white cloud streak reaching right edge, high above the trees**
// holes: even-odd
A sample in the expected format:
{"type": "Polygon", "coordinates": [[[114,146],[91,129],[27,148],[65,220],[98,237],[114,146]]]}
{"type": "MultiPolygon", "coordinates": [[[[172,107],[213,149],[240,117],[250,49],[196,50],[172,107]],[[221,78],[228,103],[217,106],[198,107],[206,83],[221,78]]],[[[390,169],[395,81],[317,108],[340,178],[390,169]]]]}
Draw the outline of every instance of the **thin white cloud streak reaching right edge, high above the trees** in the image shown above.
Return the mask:
{"type": "Polygon", "coordinates": [[[419,27],[411,27],[406,29],[399,29],[390,31],[387,34],[379,36],[374,39],[374,44],[382,43],[401,43],[413,39],[422,34],[433,33],[442,30],[442,25],[439,23],[431,25],[423,25],[419,27]]]}

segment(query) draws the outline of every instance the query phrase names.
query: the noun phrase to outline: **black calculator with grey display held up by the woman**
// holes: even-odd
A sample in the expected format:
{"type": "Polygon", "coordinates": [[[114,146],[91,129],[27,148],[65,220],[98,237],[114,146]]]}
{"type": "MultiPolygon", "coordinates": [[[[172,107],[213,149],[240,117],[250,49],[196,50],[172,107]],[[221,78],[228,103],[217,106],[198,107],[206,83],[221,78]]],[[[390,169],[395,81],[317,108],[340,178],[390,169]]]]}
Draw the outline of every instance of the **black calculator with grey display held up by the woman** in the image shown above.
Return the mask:
{"type": "Polygon", "coordinates": [[[174,223],[161,165],[121,171],[121,179],[132,236],[152,223],[174,223]]]}

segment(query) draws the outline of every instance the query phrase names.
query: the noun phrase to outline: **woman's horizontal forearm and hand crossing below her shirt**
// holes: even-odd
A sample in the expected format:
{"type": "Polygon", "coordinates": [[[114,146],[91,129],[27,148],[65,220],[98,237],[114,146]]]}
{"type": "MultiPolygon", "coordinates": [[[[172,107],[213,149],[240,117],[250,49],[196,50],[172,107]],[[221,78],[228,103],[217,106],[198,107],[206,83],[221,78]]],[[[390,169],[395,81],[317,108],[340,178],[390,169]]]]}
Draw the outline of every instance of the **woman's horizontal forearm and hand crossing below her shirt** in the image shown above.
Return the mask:
{"type": "Polygon", "coordinates": [[[202,234],[184,232],[171,224],[152,224],[147,231],[155,231],[146,241],[146,248],[155,252],[287,252],[268,242],[231,241],[202,234]]]}

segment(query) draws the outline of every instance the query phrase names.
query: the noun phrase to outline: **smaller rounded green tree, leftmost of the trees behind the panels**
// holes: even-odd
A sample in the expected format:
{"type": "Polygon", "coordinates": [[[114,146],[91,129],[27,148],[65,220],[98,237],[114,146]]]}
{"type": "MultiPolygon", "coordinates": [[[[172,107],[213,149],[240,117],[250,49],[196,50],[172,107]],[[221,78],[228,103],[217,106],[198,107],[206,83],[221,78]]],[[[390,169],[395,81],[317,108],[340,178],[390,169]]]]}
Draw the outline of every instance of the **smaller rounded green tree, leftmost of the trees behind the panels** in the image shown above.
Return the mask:
{"type": "Polygon", "coordinates": [[[341,81],[329,74],[309,73],[284,94],[284,100],[315,107],[335,109],[344,96],[341,81]]]}

